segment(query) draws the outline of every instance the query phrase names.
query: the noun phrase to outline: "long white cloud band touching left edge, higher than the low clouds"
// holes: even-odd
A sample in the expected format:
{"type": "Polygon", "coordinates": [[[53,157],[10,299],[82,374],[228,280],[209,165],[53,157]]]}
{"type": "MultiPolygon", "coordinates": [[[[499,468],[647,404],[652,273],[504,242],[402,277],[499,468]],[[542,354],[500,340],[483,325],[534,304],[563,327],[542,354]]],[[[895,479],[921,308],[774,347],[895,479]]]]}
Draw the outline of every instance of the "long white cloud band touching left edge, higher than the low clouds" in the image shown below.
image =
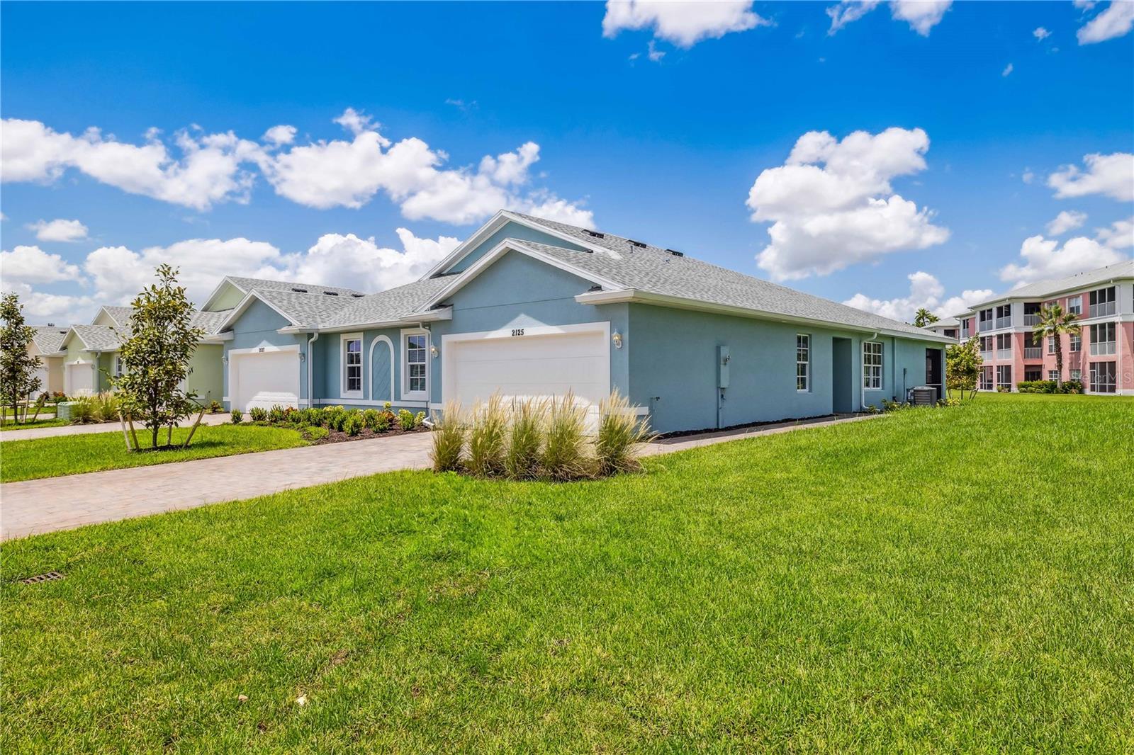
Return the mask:
{"type": "Polygon", "coordinates": [[[5,181],[51,183],[68,168],[130,194],[197,210],[235,200],[247,202],[253,176],[240,163],[261,147],[231,132],[175,135],[175,158],[151,129],[144,144],[103,137],[98,128],[81,136],[56,132],[37,120],[5,119],[0,166],[5,181]]]}

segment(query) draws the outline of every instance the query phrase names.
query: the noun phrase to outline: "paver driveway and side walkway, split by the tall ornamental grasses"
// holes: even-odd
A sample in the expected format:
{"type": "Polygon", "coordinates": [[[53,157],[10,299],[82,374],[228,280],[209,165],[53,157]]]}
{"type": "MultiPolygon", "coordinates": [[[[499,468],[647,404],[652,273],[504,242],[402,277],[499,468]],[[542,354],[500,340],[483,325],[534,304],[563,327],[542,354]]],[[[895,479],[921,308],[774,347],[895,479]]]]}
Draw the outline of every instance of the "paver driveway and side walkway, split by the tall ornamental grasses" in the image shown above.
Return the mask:
{"type": "MultiPolygon", "coordinates": [[[[646,456],[866,419],[839,417],[671,438],[646,456]]],[[[15,431],[12,431],[15,432],[15,431]]],[[[0,484],[0,540],[192,509],[349,477],[430,466],[430,433],[243,453],[0,484]]]]}

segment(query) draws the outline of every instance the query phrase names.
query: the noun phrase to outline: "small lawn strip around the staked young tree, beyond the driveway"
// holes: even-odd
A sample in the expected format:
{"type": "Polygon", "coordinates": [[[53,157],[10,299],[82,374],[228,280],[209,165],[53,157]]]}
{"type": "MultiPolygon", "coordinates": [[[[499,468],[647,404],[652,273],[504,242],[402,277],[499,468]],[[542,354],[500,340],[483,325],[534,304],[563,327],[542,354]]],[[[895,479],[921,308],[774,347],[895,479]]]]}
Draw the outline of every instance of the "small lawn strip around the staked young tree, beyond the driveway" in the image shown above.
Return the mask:
{"type": "MultiPolygon", "coordinates": [[[[151,464],[188,461],[307,444],[296,430],[253,425],[202,425],[197,427],[193,443],[184,451],[145,450],[149,448],[150,438],[139,430],[138,441],[143,450],[128,453],[121,430],[111,430],[111,426],[108,426],[108,431],[85,435],[5,441],[0,444],[0,482],[145,467],[151,464]]],[[[188,427],[175,430],[174,441],[185,440],[188,432],[188,427]]],[[[164,440],[166,433],[162,432],[159,442],[163,443],[164,440]]]]}

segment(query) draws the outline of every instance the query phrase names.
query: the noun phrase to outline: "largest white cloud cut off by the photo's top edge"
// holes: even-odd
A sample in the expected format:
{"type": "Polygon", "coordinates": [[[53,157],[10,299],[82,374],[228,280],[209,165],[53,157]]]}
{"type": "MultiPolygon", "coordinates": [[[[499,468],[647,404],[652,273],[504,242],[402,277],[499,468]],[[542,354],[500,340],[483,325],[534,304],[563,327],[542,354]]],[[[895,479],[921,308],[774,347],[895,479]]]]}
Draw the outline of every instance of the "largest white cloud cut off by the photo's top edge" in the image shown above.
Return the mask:
{"type": "Polygon", "coordinates": [[[770,24],[752,11],[751,0],[608,0],[602,35],[613,37],[624,28],[652,28],[658,39],[692,48],[701,40],[770,24]]]}

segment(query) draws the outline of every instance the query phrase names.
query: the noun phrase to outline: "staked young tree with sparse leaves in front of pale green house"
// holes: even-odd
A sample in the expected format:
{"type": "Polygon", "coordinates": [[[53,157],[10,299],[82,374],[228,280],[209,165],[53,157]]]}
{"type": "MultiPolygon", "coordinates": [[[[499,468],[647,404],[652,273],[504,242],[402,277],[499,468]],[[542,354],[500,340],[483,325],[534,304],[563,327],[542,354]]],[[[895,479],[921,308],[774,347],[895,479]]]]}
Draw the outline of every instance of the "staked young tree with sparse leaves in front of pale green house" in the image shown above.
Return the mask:
{"type": "Polygon", "coordinates": [[[170,446],[174,426],[196,408],[196,393],[185,391],[181,384],[204,331],[191,325],[193,304],[177,285],[177,271],[162,264],[155,275],[158,282],[130,303],[130,333],[118,353],[122,375],[113,385],[122,415],[132,427],[135,419],[141,421],[158,448],[159,431],[168,429],[166,446],[170,446]]]}

